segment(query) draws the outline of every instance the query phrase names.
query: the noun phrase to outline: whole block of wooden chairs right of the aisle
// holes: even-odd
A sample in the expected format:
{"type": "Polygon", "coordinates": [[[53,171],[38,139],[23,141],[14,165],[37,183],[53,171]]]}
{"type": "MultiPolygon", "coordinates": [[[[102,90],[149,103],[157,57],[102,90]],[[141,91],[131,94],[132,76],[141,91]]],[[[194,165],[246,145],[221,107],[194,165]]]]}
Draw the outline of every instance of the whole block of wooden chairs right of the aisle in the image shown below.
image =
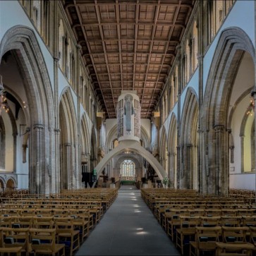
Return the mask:
{"type": "Polygon", "coordinates": [[[188,255],[185,248],[192,256],[251,255],[255,250],[256,207],[251,201],[210,195],[200,201],[196,193],[181,196],[159,189],[144,189],[142,195],[182,255],[188,255]]]}

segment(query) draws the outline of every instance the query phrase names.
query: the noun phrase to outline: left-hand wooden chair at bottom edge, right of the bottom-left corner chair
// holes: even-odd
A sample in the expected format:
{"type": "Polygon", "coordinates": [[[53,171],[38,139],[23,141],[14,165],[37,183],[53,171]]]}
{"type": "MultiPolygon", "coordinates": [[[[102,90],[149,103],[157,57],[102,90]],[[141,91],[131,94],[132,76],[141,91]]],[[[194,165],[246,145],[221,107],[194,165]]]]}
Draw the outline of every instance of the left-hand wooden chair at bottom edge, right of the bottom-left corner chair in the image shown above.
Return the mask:
{"type": "Polygon", "coordinates": [[[34,255],[65,256],[65,245],[55,242],[55,228],[30,228],[30,246],[34,255]]]}

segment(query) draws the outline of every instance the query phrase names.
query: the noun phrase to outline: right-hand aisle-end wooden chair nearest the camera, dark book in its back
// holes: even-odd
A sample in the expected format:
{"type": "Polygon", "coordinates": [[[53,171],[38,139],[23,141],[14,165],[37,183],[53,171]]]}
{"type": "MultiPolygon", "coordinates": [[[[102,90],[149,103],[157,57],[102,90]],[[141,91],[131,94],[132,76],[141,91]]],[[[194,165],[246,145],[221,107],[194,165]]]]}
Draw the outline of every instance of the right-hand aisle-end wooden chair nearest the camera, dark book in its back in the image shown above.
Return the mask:
{"type": "Polygon", "coordinates": [[[190,256],[199,256],[200,252],[215,252],[216,242],[221,236],[221,226],[197,226],[195,241],[190,241],[190,256]]]}

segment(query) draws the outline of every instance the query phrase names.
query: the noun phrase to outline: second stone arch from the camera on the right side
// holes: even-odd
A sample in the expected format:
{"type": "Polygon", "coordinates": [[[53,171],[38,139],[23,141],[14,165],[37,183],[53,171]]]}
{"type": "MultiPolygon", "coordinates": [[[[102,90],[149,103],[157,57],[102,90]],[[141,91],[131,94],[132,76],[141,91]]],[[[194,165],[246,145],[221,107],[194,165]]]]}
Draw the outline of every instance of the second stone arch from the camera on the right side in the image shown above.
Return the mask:
{"type": "Polygon", "coordinates": [[[193,88],[188,88],[181,116],[181,173],[180,188],[197,189],[197,128],[198,99],[193,88]]]}

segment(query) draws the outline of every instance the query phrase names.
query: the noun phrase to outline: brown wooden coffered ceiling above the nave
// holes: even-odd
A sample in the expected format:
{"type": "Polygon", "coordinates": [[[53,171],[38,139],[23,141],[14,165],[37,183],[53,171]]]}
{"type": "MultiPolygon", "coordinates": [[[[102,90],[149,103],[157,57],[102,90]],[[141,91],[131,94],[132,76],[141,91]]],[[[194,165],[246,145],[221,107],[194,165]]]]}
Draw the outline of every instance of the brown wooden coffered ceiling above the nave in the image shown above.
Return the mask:
{"type": "Polygon", "coordinates": [[[121,90],[137,90],[141,118],[151,118],[193,4],[193,0],[63,1],[106,118],[116,118],[121,90]]]}

